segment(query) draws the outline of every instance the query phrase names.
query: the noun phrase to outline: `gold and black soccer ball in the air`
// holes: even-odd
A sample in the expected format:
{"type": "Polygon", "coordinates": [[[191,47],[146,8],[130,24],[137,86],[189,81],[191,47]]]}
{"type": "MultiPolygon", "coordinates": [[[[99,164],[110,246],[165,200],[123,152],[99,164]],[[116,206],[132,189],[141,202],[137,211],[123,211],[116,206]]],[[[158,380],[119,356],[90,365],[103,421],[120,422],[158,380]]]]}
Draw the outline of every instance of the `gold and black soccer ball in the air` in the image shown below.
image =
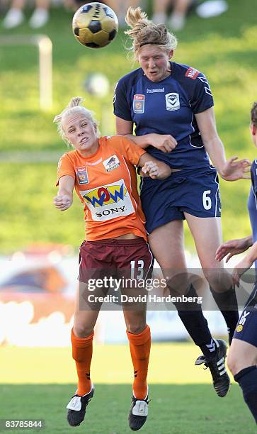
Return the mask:
{"type": "Polygon", "coordinates": [[[102,48],[115,38],[118,18],[113,9],[103,3],[84,4],[74,13],[72,30],[82,45],[102,48]]]}

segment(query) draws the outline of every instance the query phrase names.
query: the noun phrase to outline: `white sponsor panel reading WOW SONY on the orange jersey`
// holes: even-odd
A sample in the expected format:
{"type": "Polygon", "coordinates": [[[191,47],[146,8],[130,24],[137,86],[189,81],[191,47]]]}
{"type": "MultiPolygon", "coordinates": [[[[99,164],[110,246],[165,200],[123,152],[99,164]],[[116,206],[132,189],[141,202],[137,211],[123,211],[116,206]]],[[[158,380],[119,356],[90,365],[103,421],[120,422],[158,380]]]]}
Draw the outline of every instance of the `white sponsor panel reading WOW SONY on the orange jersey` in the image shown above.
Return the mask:
{"type": "Polygon", "coordinates": [[[124,179],[79,193],[94,221],[108,221],[135,212],[124,179]]]}

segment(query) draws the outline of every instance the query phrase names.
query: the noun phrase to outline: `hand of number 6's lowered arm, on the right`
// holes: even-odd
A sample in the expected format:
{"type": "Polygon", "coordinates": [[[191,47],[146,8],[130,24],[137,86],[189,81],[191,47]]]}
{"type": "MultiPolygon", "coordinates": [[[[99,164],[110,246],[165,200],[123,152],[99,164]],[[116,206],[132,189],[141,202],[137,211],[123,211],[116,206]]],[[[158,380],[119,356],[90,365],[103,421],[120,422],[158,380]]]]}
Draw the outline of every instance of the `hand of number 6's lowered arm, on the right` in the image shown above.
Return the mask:
{"type": "Polygon", "coordinates": [[[236,161],[237,159],[238,157],[231,157],[224,165],[221,176],[226,181],[236,181],[236,179],[251,179],[249,174],[251,170],[251,162],[246,158],[236,161]]]}

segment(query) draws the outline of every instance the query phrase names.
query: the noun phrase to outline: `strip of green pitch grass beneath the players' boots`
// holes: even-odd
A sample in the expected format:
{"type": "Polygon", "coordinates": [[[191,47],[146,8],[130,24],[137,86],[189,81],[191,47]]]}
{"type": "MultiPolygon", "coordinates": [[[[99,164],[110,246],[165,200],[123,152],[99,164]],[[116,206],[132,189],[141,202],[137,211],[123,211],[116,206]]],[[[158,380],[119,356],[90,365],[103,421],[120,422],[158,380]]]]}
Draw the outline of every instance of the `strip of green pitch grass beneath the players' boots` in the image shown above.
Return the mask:
{"type": "MultiPolygon", "coordinates": [[[[74,384],[4,384],[0,418],[44,419],[42,433],[72,433],[65,408],[74,387],[74,384]]],[[[86,419],[76,428],[76,433],[131,433],[127,425],[130,394],[128,384],[96,384],[86,419]]],[[[154,384],[151,399],[149,417],[140,433],[256,433],[256,425],[236,385],[222,399],[206,384],[154,384]]],[[[28,433],[28,430],[18,432],[28,433]]]]}

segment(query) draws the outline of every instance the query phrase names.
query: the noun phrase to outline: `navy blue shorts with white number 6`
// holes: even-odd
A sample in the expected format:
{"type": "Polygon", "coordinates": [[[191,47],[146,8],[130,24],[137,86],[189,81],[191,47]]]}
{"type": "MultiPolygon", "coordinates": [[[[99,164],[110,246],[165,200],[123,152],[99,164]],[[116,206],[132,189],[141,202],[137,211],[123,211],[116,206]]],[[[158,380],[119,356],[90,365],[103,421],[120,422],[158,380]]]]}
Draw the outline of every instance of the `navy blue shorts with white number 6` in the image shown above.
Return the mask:
{"type": "Polygon", "coordinates": [[[220,217],[219,179],[214,167],[173,172],[164,181],[142,178],[140,196],[147,219],[147,233],[184,212],[195,217],[220,217]]]}

